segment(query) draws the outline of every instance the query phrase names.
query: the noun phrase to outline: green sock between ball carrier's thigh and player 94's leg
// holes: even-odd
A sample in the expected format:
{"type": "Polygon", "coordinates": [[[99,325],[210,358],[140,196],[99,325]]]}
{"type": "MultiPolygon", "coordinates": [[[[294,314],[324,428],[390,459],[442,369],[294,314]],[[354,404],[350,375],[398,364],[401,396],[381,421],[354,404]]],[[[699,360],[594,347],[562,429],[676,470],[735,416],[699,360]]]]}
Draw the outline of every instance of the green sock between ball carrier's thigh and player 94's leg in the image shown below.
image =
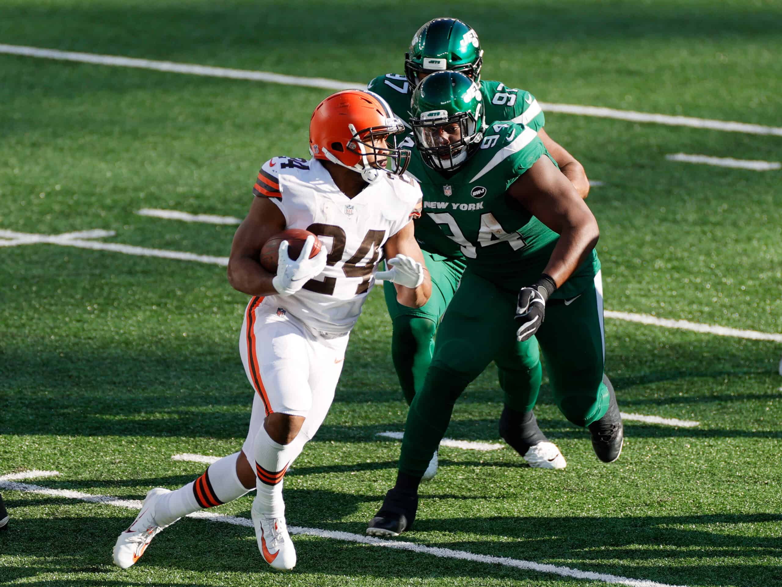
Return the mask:
{"type": "Polygon", "coordinates": [[[429,318],[400,316],[393,321],[391,359],[408,406],[424,386],[426,371],[432,363],[436,331],[437,324],[429,318]]]}

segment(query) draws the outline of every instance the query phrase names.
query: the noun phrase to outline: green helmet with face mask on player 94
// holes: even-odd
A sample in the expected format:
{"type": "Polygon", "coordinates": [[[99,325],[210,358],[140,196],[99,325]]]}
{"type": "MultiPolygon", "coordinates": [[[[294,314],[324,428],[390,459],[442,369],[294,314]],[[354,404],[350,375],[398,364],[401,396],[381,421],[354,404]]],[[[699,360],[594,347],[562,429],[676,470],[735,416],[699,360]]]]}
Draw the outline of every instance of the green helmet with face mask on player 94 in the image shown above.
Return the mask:
{"type": "Polygon", "coordinates": [[[478,149],[486,130],[481,88],[464,73],[428,75],[410,106],[413,140],[432,169],[457,170],[478,149]]]}

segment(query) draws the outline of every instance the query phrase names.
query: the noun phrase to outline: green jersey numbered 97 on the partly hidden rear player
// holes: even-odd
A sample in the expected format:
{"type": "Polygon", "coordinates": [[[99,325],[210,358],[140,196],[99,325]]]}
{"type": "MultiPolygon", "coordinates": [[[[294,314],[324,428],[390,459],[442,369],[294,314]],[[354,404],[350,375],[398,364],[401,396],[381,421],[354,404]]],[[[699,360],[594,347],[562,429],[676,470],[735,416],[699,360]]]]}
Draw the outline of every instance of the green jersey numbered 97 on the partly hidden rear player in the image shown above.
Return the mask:
{"type": "MultiPolygon", "coordinates": [[[[529,91],[506,88],[499,81],[482,81],[480,88],[486,123],[495,120],[512,120],[532,127],[536,132],[540,131],[546,123],[543,110],[529,91]]],[[[414,88],[404,75],[389,73],[375,77],[369,82],[367,89],[382,96],[391,106],[393,113],[410,128],[410,101],[414,88]]],[[[411,145],[412,138],[404,142],[405,148],[411,145]]],[[[448,238],[443,238],[442,232],[434,224],[416,220],[415,238],[421,248],[432,253],[436,259],[461,257],[459,247],[448,238]]]]}

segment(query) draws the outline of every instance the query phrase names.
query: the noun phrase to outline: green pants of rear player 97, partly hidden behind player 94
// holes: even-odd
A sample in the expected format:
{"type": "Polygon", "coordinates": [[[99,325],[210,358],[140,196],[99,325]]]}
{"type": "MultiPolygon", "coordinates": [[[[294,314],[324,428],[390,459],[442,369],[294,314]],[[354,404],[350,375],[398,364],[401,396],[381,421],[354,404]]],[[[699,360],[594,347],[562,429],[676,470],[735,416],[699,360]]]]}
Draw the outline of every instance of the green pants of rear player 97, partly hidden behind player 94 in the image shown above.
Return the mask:
{"type": "MultiPolygon", "coordinates": [[[[396,288],[388,284],[383,288],[386,306],[393,324],[391,357],[399,378],[404,399],[409,405],[421,391],[426,371],[432,363],[435,334],[440,318],[459,287],[465,272],[464,259],[443,259],[422,251],[426,268],[432,277],[432,296],[424,306],[410,308],[396,301],[396,288]]],[[[540,390],[540,361],[529,358],[529,345],[518,343],[509,353],[503,365],[498,365],[500,387],[505,392],[505,404],[518,412],[528,412],[535,406],[540,390]]]]}

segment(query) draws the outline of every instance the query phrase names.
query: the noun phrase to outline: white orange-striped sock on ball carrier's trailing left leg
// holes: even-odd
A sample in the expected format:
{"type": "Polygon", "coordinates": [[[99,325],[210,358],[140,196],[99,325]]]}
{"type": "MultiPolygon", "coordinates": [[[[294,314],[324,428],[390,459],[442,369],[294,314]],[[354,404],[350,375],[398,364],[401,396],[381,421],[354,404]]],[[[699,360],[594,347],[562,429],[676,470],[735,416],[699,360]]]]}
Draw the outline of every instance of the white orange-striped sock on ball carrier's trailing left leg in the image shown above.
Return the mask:
{"type": "Polygon", "coordinates": [[[249,489],[242,485],[236,474],[239,454],[224,456],[195,481],[160,496],[155,504],[155,521],[167,526],[187,514],[242,497],[249,489]]]}

